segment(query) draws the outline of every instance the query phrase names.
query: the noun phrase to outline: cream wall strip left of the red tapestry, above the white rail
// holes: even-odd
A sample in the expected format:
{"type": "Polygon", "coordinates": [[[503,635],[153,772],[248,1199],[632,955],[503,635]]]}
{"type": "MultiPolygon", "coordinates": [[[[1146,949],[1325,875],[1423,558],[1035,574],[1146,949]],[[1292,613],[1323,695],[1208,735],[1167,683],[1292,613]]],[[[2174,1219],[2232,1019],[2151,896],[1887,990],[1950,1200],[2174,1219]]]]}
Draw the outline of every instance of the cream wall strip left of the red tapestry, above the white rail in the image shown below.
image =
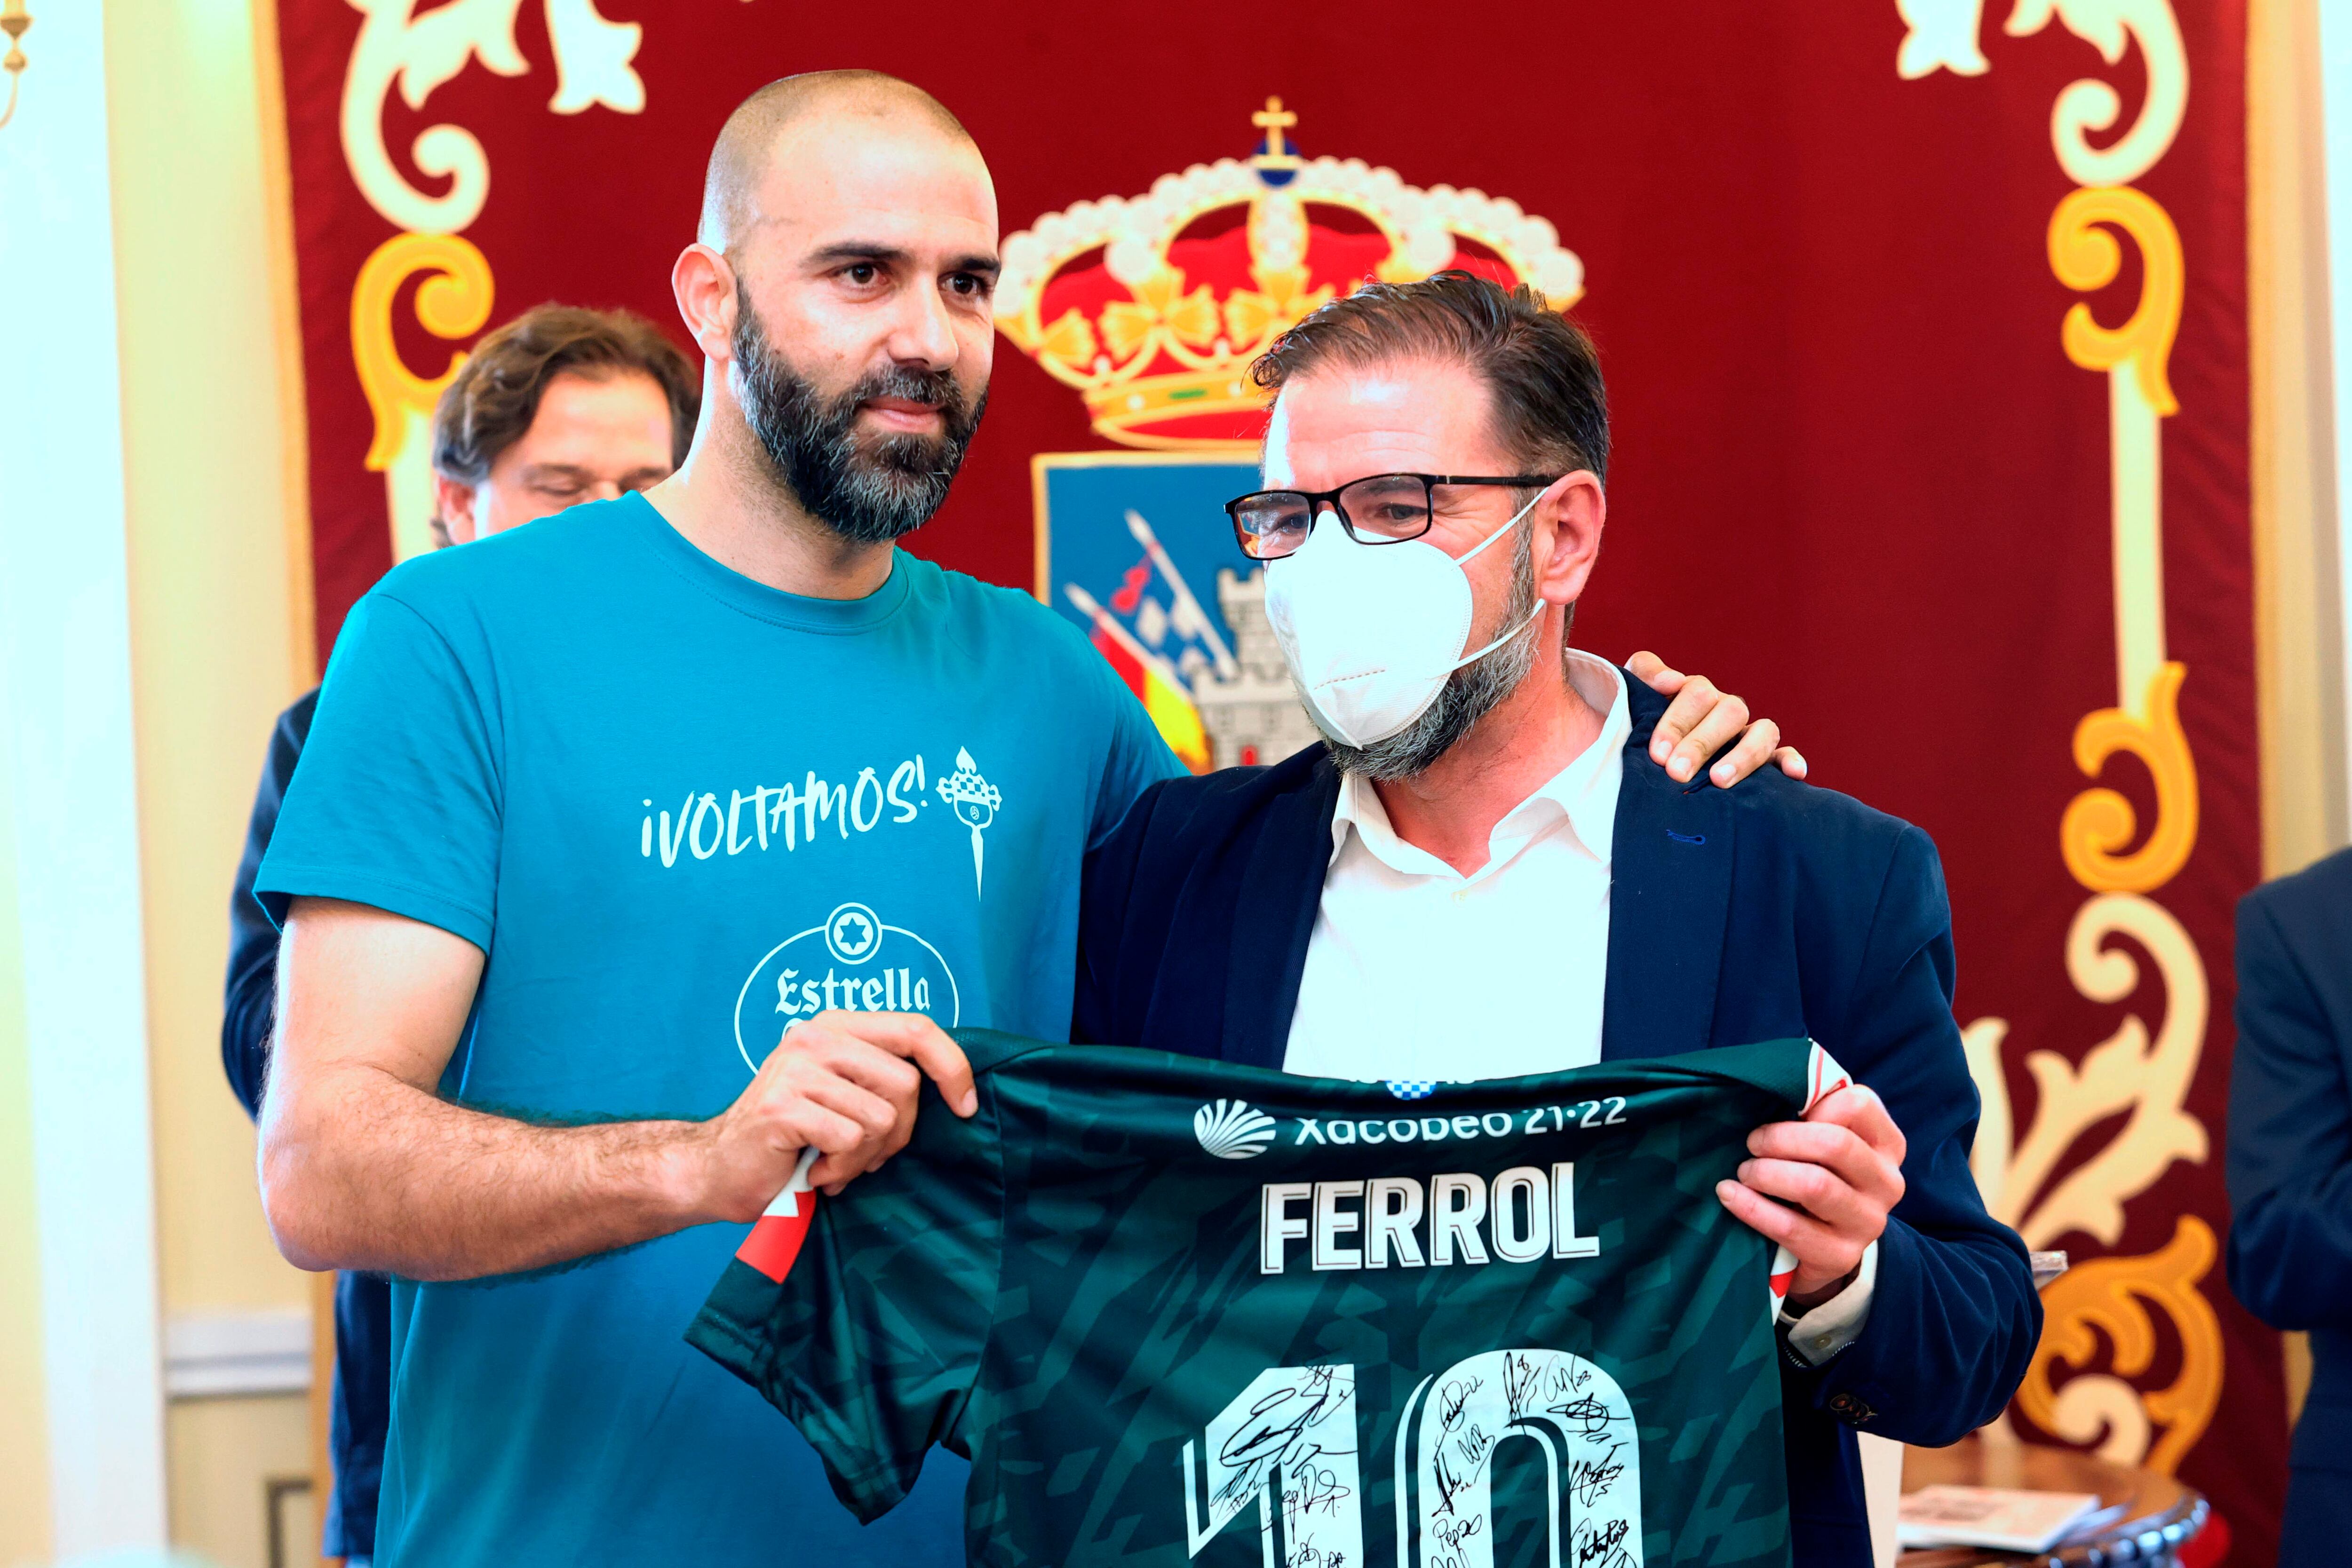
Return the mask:
{"type": "Polygon", "coordinates": [[[308,1300],[221,1077],[228,886],[296,696],[273,223],[247,0],[108,7],[165,1312],[308,1300]]]}

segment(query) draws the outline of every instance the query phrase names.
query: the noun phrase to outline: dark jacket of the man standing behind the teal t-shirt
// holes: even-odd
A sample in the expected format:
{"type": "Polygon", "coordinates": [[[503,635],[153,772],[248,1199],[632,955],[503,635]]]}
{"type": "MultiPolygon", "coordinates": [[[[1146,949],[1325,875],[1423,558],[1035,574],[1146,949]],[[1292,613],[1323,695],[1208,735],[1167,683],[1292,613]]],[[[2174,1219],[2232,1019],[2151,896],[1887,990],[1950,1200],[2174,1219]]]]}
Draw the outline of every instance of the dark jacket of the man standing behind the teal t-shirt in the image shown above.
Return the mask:
{"type": "MultiPolygon", "coordinates": [[[[294,759],[310,736],[318,691],[278,715],[270,759],[254,792],[254,820],[245,832],[238,886],[228,896],[228,1011],[221,1018],[221,1067],[228,1086],[259,1114],[261,1084],[270,1070],[270,1025],[278,994],[278,926],[254,900],[254,872],[278,827],[278,804],[294,778],[294,759]]],[[[374,1274],[334,1276],[334,1495],[327,1500],[325,1554],[372,1559],[376,1554],[376,1483],[383,1476],[383,1429],[390,1415],[393,1288],[374,1274]]]]}

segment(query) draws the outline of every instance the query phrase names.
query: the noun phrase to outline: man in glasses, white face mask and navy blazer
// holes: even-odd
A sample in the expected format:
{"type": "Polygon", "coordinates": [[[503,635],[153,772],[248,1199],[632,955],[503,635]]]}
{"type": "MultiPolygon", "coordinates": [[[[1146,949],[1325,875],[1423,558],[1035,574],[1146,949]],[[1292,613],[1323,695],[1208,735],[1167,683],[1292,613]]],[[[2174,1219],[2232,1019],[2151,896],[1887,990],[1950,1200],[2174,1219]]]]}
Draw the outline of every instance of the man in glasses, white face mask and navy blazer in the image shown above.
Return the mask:
{"type": "Polygon", "coordinates": [[[1663,701],[1569,646],[1609,416],[1531,289],[1367,284],[1254,374],[1265,489],[1228,510],[1327,745],[1155,785],[1089,856],[1075,1037],[1388,1081],[1818,1039],[1860,1086],[1717,1199],[1797,1258],[1795,1561],[1867,1566],[1853,1434],[1959,1439],[2042,1328],[1969,1175],[1933,844],[1769,769],[1691,790],[1663,701]]]}

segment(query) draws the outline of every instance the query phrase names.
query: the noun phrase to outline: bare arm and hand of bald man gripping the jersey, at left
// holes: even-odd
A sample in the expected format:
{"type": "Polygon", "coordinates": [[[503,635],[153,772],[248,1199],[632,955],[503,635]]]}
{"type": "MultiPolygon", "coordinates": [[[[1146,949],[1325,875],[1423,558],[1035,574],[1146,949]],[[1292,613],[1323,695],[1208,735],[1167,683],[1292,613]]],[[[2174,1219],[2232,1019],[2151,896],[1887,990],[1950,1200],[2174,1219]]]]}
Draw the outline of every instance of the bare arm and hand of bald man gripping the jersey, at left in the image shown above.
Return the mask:
{"type": "Polygon", "coordinates": [[[748,1222],[807,1145],[823,1152],[818,1187],[896,1154],[917,1065],[957,1114],[976,1107],[962,1051],[927,1018],[877,1013],[851,1034],[826,1013],[710,1121],[513,1121],[437,1093],[482,978],[473,943],[296,898],[278,978],[261,1197],[280,1253],[303,1269],[473,1279],[748,1222]]]}

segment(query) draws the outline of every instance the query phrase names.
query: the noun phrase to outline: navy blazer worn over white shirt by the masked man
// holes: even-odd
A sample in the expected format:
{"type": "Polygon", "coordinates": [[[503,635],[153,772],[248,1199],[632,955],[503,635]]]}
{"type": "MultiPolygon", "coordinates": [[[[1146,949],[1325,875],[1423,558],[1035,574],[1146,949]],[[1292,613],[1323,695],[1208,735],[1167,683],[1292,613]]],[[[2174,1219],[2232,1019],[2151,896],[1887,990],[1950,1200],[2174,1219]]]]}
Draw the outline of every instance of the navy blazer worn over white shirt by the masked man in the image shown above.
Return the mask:
{"type": "MultiPolygon", "coordinates": [[[[1625,686],[1602,1058],[1811,1034],[1910,1143],[1863,1333],[1820,1368],[1780,1356],[1795,1561],[1870,1568],[1853,1429],[1952,1443],[2042,1335],[2025,1244],[1969,1175],[1943,870],[1917,827],[1776,769],[1675,783],[1649,759],[1665,698],[1625,686]]],[[[1073,1039],[1279,1067],[1336,804],[1322,748],[1145,792],[1087,860],[1073,1039]]]]}

